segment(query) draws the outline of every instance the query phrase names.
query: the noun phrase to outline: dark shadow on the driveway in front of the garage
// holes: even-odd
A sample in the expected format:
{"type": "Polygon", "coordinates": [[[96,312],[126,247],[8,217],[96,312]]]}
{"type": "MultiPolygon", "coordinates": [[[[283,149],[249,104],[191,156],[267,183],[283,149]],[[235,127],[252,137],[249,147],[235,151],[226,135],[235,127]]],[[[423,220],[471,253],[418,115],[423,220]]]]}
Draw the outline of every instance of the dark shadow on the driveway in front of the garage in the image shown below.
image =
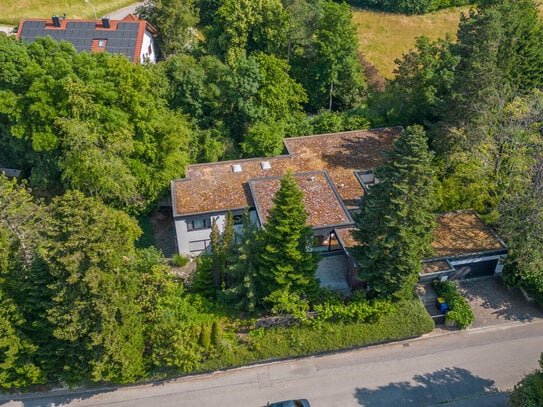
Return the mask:
{"type": "Polygon", "coordinates": [[[528,303],[520,290],[507,288],[499,277],[459,280],[458,287],[473,306],[480,306],[505,321],[530,322],[543,318],[543,311],[528,303]]]}

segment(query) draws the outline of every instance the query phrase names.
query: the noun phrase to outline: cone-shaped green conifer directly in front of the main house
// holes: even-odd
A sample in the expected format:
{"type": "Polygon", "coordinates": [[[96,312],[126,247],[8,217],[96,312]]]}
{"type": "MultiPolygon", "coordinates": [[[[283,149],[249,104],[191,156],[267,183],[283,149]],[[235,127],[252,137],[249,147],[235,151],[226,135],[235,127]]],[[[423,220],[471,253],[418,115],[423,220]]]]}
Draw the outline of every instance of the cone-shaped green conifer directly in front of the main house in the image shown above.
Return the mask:
{"type": "Polygon", "coordinates": [[[317,254],[311,251],[313,231],[306,224],[303,192],[287,172],[273,198],[268,223],[262,230],[258,279],[264,296],[304,294],[317,286],[317,254]]]}

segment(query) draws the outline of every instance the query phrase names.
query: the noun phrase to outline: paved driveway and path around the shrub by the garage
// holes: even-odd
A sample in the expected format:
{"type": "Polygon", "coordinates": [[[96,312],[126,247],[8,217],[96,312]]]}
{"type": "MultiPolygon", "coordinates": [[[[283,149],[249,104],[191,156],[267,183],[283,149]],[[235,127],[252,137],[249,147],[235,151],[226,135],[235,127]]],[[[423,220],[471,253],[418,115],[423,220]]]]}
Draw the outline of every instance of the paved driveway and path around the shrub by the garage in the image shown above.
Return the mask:
{"type": "MultiPolygon", "coordinates": [[[[501,276],[456,280],[455,283],[475,315],[470,329],[512,322],[543,321],[543,310],[535,303],[528,302],[518,288],[506,287],[501,276]]],[[[419,285],[417,293],[430,314],[435,313],[437,294],[431,285],[419,285]]],[[[440,330],[448,329],[444,325],[436,327],[440,330]]]]}

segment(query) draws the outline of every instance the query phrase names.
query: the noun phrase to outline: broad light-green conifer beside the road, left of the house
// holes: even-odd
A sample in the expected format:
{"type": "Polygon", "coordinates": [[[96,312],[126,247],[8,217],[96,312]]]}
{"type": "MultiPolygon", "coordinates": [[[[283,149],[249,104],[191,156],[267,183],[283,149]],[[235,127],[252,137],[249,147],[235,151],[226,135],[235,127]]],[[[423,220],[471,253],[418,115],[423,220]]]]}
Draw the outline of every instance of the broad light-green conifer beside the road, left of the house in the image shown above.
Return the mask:
{"type": "MultiPolygon", "coordinates": [[[[141,277],[130,267],[141,231],[128,215],[69,192],[52,204],[41,250],[49,332],[40,349],[60,379],[128,382],[145,372],[141,277]]],[[[29,282],[30,283],[30,282],[29,282]]],[[[30,284],[29,284],[30,285],[30,284]]],[[[35,294],[34,294],[35,295],[35,294]]],[[[38,321],[39,322],[39,321],[38,321]]],[[[47,327],[47,326],[46,326],[47,327]]]]}

